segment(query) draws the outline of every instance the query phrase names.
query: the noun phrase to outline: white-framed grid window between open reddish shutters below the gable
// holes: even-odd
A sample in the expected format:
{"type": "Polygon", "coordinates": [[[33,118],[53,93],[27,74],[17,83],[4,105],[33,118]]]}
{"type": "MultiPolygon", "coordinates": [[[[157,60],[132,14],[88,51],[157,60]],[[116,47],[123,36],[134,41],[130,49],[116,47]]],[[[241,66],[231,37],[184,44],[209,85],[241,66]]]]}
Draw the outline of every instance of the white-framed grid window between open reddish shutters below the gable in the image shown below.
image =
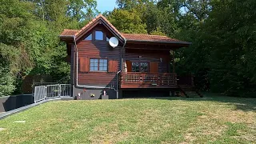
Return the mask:
{"type": "Polygon", "coordinates": [[[107,59],[90,59],[90,71],[107,71],[107,59]]]}

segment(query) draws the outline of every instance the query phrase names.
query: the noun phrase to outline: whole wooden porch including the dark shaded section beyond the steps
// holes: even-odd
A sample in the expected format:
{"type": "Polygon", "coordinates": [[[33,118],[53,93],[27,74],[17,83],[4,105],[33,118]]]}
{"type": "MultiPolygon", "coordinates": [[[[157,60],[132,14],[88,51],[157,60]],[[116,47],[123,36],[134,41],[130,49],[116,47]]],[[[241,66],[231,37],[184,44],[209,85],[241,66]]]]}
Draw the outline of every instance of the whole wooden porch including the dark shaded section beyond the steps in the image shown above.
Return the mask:
{"type": "Polygon", "coordinates": [[[180,88],[194,87],[193,76],[178,77],[176,73],[138,73],[122,72],[119,74],[119,88],[180,88]]]}

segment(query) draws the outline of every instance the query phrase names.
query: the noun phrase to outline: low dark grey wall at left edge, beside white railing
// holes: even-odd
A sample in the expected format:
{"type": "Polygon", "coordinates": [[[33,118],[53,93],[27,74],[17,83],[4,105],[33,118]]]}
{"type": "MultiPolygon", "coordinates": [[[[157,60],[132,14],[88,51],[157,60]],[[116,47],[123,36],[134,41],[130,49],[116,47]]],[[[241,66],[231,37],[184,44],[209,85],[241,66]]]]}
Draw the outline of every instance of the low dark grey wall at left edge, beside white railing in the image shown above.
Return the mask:
{"type": "Polygon", "coordinates": [[[0,97],[0,113],[14,110],[22,106],[34,103],[32,94],[21,94],[8,97],[0,97]]]}

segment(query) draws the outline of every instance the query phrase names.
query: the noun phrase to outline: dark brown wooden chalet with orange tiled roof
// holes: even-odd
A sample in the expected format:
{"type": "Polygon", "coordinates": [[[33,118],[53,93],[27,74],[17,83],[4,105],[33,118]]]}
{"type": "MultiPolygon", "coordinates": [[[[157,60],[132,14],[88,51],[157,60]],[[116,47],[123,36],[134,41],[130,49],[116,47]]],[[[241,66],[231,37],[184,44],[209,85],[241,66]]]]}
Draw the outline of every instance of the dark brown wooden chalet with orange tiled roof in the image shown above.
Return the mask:
{"type": "Polygon", "coordinates": [[[59,37],[66,42],[76,98],[156,97],[195,90],[193,78],[178,78],[171,64],[174,50],[188,47],[190,42],[122,34],[102,14],[81,30],[64,30],[59,37]],[[118,39],[114,48],[109,44],[113,37],[118,39]]]}

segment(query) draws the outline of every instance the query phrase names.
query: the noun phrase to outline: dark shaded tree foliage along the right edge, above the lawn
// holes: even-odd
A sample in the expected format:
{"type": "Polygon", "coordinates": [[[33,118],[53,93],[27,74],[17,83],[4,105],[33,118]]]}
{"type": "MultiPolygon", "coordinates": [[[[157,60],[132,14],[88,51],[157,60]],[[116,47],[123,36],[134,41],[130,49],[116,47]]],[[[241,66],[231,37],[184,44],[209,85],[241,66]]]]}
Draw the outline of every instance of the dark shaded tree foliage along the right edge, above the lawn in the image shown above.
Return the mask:
{"type": "Polygon", "coordinates": [[[213,5],[204,28],[214,39],[209,42],[212,88],[217,90],[220,83],[227,94],[255,90],[251,88],[256,85],[256,13],[251,6],[256,2],[216,1],[213,5]]]}

